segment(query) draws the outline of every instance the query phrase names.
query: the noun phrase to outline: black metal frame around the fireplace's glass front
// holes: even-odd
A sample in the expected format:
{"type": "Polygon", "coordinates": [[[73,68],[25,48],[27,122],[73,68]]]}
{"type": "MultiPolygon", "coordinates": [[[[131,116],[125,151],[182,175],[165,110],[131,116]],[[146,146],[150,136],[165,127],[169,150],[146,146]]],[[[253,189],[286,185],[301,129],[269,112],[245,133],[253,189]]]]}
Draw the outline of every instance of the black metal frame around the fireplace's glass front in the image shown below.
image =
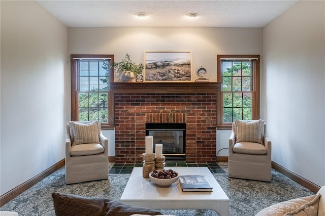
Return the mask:
{"type": "MultiPolygon", "coordinates": [[[[146,136],[151,136],[150,131],[182,131],[183,132],[183,143],[179,143],[179,148],[182,149],[179,153],[164,153],[166,161],[186,161],[186,123],[146,123],[146,136]]],[[[154,140],[154,136],[153,136],[154,140]]],[[[153,143],[153,150],[155,149],[155,144],[153,143]]]]}

